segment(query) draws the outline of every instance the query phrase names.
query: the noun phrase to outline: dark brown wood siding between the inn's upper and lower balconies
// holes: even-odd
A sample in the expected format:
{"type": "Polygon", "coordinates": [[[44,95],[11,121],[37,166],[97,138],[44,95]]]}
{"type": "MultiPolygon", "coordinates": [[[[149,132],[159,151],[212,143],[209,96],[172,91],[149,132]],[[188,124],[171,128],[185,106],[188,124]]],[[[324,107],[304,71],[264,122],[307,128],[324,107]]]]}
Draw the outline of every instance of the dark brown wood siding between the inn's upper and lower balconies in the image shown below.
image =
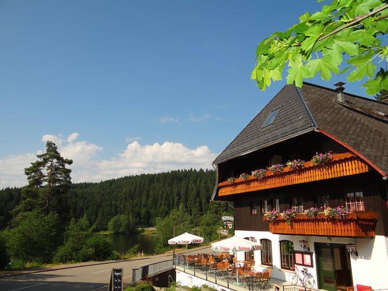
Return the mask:
{"type": "Polygon", "coordinates": [[[234,202],[235,229],[268,231],[268,222],[263,221],[260,213],[261,200],[268,201],[268,210],[272,209],[272,199],[279,199],[279,210],[291,208],[291,199],[295,196],[303,197],[303,207],[308,209],[316,206],[319,195],[330,196],[330,206],[344,205],[344,196],[347,192],[362,191],[366,211],[378,214],[376,235],[388,236],[388,206],[384,181],[377,174],[361,174],[346,178],[329,179],[302,185],[281,187],[273,190],[238,194],[230,197],[234,202]],[[250,202],[257,201],[258,214],[250,213],[250,202]]]}

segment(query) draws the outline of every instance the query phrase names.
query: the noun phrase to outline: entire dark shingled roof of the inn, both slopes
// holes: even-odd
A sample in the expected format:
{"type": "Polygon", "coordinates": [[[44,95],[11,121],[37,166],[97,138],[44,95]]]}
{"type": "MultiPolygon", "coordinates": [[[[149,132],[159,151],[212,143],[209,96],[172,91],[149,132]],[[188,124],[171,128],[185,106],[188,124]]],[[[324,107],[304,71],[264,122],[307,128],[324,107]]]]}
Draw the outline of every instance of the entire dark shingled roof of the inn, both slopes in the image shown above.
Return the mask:
{"type": "Polygon", "coordinates": [[[286,85],[214,160],[220,163],[315,128],[322,129],[388,173],[388,104],[351,94],[345,104],[329,88],[286,85]],[[281,106],[273,124],[268,114],[281,106]],[[387,115],[384,115],[387,114],[387,115]]]}

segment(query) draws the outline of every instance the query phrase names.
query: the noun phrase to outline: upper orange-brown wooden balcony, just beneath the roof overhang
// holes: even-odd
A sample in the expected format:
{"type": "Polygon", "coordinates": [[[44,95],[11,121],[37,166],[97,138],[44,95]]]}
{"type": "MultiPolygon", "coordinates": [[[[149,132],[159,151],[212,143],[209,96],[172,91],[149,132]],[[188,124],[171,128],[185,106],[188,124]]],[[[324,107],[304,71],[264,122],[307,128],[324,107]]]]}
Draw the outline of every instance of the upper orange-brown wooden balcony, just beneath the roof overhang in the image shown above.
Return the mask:
{"type": "Polygon", "coordinates": [[[274,175],[267,172],[261,180],[250,176],[247,180],[236,179],[233,184],[222,182],[218,184],[218,195],[225,196],[251,191],[259,191],[276,187],[319,181],[330,178],[338,178],[366,173],[370,170],[368,164],[353,153],[333,155],[333,161],[323,166],[314,166],[312,162],[306,162],[304,167],[292,171],[285,167],[283,173],[274,175]]]}

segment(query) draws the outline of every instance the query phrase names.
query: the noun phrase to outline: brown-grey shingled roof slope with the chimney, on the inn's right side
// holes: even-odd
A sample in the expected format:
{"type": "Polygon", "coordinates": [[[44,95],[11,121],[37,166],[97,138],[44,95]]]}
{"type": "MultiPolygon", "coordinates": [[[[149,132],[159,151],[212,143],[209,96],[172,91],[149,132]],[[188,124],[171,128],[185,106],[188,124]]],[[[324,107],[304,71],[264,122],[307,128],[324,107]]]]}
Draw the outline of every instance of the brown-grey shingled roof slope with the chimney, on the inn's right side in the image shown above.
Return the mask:
{"type": "Polygon", "coordinates": [[[300,89],[318,128],[352,147],[388,174],[388,104],[305,83],[300,89]],[[381,117],[379,117],[379,115],[381,117]]]}

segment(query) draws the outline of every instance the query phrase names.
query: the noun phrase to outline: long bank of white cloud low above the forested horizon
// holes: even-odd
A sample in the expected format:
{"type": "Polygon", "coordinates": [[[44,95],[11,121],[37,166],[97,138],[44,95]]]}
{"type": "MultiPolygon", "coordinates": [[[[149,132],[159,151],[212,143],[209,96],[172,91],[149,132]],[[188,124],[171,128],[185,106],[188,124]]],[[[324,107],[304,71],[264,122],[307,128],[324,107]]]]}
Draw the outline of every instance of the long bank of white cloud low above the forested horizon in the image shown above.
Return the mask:
{"type": "MultiPolygon", "coordinates": [[[[98,160],[96,156],[103,148],[86,141],[76,141],[78,136],[78,133],[72,133],[67,139],[59,134],[45,134],[42,137],[42,142],[48,140],[55,142],[61,155],[73,160],[70,166],[73,182],[100,181],[175,169],[210,169],[211,162],[217,155],[207,146],[191,149],[180,143],[167,141],[163,144],[142,146],[134,140],[119,155],[107,160],[98,160]]],[[[0,188],[25,185],[27,180],[24,176],[24,168],[35,160],[36,156],[32,153],[9,156],[0,160],[0,188]]]]}

